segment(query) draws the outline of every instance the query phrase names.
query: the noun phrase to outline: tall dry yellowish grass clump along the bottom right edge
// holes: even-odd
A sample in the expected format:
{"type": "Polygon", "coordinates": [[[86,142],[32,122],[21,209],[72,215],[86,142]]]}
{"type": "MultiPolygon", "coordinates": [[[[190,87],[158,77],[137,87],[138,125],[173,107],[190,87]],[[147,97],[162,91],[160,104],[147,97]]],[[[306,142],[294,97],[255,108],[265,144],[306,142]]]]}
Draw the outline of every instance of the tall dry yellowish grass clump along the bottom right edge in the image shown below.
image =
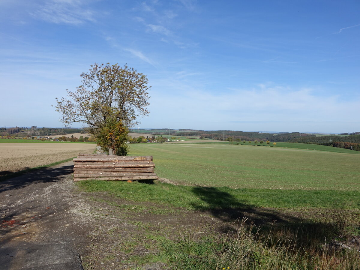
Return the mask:
{"type": "Polygon", "coordinates": [[[171,269],[359,269],[356,251],[336,251],[304,240],[311,236],[287,229],[263,234],[243,220],[233,233],[216,238],[187,234],[163,240],[157,257],[171,269]]]}

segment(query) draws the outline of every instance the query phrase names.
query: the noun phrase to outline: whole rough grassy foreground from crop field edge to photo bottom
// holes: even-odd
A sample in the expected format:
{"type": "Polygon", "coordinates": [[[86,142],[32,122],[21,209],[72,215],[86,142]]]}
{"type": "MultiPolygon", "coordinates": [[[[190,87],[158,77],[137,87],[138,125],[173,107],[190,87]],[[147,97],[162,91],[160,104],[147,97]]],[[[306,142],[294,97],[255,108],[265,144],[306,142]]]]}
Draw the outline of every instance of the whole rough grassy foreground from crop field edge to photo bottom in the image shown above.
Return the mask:
{"type": "MultiPolygon", "coordinates": [[[[144,269],[143,265],[159,262],[167,269],[359,269],[357,251],[332,246],[333,239],[360,235],[358,192],[111,181],[82,181],[78,185],[88,192],[106,192],[126,200],[107,202],[117,207],[116,212],[123,212],[128,224],[136,226],[131,236],[120,238],[117,248],[107,255],[115,260],[119,253],[125,253],[123,264],[134,266],[126,269],[144,269]],[[179,207],[186,208],[180,212],[182,220],[192,215],[199,215],[198,219],[209,216],[221,221],[225,229],[219,233],[201,225],[176,232],[178,225],[169,226],[166,221],[179,214],[174,212],[179,207]],[[294,211],[296,214],[290,214],[294,211]],[[156,216],[154,221],[151,215],[156,216]]],[[[112,230],[115,235],[121,231],[112,230]]]]}

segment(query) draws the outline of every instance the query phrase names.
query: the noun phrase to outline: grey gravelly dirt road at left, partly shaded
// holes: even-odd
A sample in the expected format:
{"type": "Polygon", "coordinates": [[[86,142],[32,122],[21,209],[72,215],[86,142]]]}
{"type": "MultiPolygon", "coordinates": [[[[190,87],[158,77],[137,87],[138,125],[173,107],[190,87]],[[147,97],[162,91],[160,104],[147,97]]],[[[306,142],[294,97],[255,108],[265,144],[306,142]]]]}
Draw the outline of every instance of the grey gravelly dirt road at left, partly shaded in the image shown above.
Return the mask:
{"type": "Polygon", "coordinates": [[[0,269],[82,269],[91,230],[73,162],[0,182],[0,269]]]}

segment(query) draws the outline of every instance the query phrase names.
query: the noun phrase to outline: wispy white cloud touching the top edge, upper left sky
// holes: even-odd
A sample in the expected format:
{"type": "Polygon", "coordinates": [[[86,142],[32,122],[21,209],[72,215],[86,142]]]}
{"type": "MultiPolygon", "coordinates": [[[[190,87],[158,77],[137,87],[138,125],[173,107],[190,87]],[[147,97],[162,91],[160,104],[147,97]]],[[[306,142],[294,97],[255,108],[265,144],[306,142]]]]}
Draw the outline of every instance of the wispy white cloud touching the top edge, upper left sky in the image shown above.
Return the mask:
{"type": "Polygon", "coordinates": [[[84,8],[86,2],[81,0],[50,0],[40,6],[33,17],[57,24],[82,24],[86,21],[94,22],[95,12],[84,8]]]}

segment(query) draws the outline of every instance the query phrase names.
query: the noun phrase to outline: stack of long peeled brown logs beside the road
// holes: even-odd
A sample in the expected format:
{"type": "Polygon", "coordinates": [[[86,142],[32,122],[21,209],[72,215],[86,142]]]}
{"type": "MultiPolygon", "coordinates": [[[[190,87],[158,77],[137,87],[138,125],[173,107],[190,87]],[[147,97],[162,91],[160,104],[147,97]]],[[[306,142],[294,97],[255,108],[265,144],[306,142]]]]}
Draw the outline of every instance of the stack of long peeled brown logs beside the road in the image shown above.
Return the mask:
{"type": "MultiPolygon", "coordinates": [[[[79,154],[74,158],[74,181],[155,180],[152,156],[127,157],[104,154],[79,154]]],[[[130,182],[129,181],[129,182],[130,182]]]]}

